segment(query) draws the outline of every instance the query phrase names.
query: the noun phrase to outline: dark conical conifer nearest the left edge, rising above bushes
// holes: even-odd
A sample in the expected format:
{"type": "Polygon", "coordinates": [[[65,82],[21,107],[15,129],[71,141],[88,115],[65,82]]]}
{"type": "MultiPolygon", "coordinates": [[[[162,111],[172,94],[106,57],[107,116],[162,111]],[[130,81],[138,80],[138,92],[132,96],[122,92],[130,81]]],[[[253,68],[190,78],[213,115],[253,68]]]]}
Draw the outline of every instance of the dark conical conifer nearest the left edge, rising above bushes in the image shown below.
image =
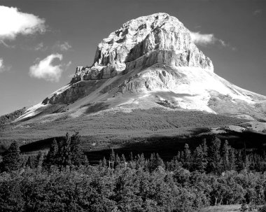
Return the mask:
{"type": "Polygon", "coordinates": [[[20,168],[20,148],[17,142],[11,143],[3,155],[3,171],[15,171],[20,168]]]}

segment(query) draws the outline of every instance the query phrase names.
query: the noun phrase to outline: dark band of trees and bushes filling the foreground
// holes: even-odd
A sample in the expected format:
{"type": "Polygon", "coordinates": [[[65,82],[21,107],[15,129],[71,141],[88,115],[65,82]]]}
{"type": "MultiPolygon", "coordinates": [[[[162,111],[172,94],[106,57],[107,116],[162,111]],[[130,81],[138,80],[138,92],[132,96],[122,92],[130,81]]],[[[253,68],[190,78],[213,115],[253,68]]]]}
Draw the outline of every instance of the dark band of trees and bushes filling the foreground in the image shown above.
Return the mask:
{"type": "Polygon", "coordinates": [[[52,141],[47,154],[25,156],[13,142],[1,158],[1,211],[201,211],[266,200],[266,158],[228,141],[186,144],[171,161],[117,155],[90,165],[78,133],[52,141]]]}

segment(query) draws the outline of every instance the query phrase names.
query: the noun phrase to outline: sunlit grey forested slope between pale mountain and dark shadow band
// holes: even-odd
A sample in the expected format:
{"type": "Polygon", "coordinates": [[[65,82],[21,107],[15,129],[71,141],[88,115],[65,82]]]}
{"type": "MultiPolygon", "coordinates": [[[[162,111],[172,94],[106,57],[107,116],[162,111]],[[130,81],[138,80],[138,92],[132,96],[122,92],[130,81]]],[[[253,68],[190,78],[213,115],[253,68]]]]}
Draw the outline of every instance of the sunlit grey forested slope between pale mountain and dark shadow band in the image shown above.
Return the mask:
{"type": "Polygon", "coordinates": [[[59,113],[0,126],[0,146],[13,140],[29,143],[75,131],[104,142],[156,134],[182,135],[190,134],[197,127],[232,125],[244,121],[199,111],[170,111],[161,108],[138,109],[131,113],[102,111],[78,118],[59,113]]]}

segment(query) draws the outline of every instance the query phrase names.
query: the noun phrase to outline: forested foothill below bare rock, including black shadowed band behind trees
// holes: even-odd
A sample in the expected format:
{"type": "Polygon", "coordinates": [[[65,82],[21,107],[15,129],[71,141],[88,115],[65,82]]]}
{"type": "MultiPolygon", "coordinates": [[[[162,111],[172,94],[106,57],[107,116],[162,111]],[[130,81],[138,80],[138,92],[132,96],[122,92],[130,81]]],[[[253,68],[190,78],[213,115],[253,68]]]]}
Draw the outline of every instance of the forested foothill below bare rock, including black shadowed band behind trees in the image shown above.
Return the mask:
{"type": "MultiPolygon", "coordinates": [[[[48,151],[54,137],[60,138],[69,132],[80,132],[83,150],[90,162],[99,162],[109,157],[111,148],[119,155],[159,153],[170,160],[183,149],[198,146],[202,139],[211,140],[211,127],[236,125],[246,120],[199,111],[169,111],[162,109],[135,110],[132,113],[104,111],[70,118],[65,113],[50,115],[45,119],[32,119],[13,125],[4,125],[0,132],[0,153],[11,141],[20,142],[22,153],[36,154],[48,151]]],[[[252,132],[217,134],[227,139],[234,148],[252,151],[265,150],[265,135],[252,132]]]]}

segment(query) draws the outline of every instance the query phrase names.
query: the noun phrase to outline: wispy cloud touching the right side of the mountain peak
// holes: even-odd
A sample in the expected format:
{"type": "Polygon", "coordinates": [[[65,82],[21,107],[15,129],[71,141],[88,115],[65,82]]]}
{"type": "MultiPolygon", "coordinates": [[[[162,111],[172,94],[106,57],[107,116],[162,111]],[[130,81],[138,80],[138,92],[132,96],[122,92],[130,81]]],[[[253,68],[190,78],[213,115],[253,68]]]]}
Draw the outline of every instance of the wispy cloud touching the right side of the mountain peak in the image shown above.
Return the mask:
{"type": "Polygon", "coordinates": [[[192,38],[192,41],[195,44],[206,46],[218,43],[222,45],[223,47],[230,46],[228,43],[225,43],[222,39],[216,38],[214,34],[201,34],[200,31],[193,32],[190,31],[190,36],[192,38]]]}

